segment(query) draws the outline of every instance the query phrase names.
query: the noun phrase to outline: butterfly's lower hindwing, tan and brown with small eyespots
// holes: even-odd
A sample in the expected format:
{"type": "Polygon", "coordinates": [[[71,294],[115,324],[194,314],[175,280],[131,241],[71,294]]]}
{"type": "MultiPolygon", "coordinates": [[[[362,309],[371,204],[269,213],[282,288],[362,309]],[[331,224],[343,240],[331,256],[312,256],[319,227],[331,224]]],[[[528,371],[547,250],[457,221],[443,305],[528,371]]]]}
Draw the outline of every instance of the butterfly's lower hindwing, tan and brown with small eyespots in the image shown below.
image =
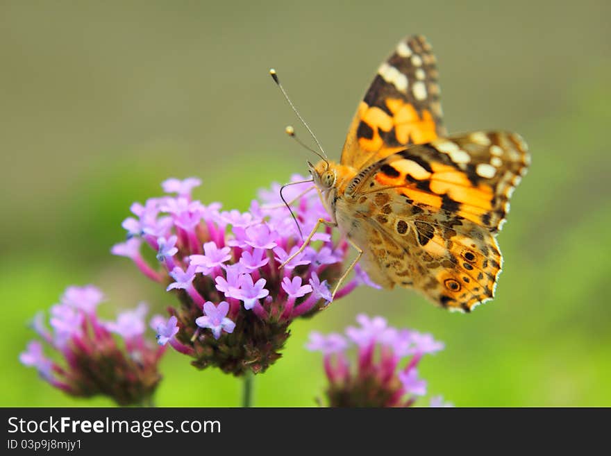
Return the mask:
{"type": "Polygon", "coordinates": [[[413,287],[464,312],[494,296],[502,260],[489,230],[446,210],[405,204],[391,188],[370,196],[353,217],[367,208],[365,267],[379,285],[413,287]]]}

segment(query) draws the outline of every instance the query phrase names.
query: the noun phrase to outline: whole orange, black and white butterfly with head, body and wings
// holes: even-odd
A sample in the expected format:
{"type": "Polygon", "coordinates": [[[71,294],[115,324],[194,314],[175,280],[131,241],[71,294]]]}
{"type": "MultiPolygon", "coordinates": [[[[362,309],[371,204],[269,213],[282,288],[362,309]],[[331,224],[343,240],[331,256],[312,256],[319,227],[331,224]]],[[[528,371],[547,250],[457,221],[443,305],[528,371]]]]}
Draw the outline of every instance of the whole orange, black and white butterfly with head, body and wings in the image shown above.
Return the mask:
{"type": "Polygon", "coordinates": [[[439,94],[430,45],[401,41],[360,103],[340,163],[321,160],[310,173],[371,280],[469,312],[494,296],[496,233],[530,158],[514,133],[448,137],[439,94]]]}

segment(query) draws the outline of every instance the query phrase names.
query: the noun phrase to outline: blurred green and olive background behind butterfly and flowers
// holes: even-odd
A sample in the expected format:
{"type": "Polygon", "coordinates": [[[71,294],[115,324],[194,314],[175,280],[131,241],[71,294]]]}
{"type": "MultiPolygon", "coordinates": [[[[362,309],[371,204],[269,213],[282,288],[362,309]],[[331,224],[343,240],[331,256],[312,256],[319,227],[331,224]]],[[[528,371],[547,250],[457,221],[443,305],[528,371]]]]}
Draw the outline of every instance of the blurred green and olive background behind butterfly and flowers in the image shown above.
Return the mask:
{"type": "MultiPolygon", "coordinates": [[[[111,405],[21,366],[26,321],[69,284],[101,287],[109,315],[173,302],[109,253],[131,202],[198,176],[197,198],[245,209],[259,187],[305,173],[269,67],[339,158],[374,71],[412,33],[435,48],[451,132],[503,128],[530,145],[499,235],[497,298],[463,315],[408,290],[358,289],[294,323],[285,357],[256,378],[256,405],[315,405],[325,382],[308,332],[358,312],[444,341],[420,371],[455,405],[611,405],[609,17],[603,0],[2,1],[0,405],[111,405]]],[[[162,369],[158,405],[239,404],[231,376],[174,352],[162,369]]]]}

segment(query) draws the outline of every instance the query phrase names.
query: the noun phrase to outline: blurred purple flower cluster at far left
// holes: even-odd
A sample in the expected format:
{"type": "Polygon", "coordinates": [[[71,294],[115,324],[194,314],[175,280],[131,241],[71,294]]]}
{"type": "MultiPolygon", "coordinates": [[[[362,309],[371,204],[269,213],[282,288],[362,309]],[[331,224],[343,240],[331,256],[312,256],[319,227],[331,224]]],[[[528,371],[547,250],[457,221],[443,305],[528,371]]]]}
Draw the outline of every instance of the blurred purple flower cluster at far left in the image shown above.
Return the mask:
{"type": "Polygon", "coordinates": [[[40,341],[31,341],[19,360],[71,396],[103,394],[119,405],[149,403],[161,380],[157,368],[165,348],[144,339],[147,305],[122,312],[115,321],[102,321],[97,316],[102,301],[102,292],[92,285],[68,287],[51,307],[50,329],[44,312],[33,321],[63,365],[44,355],[40,341]]]}

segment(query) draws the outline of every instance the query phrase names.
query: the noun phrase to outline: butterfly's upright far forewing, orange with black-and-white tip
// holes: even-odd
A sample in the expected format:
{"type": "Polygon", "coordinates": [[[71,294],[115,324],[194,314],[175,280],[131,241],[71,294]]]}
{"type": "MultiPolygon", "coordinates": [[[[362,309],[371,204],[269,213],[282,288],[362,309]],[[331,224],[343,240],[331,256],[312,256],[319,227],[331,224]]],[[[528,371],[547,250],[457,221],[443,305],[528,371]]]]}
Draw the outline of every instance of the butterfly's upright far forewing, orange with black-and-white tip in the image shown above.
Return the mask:
{"type": "Polygon", "coordinates": [[[435,56],[424,37],[399,42],[358,106],[341,163],[359,169],[409,144],[444,136],[437,77],[435,56]]]}

